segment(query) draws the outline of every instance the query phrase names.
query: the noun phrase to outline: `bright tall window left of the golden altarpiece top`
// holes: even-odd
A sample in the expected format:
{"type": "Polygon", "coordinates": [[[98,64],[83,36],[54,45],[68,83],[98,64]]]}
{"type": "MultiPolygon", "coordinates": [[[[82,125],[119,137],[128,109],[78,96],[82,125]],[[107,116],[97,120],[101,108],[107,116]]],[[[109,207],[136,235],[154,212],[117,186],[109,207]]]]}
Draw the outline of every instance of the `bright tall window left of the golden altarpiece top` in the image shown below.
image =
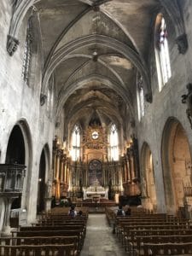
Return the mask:
{"type": "Polygon", "coordinates": [[[78,125],[74,126],[73,134],[72,134],[72,152],[71,152],[72,160],[79,160],[80,156],[80,129],[78,125]]]}

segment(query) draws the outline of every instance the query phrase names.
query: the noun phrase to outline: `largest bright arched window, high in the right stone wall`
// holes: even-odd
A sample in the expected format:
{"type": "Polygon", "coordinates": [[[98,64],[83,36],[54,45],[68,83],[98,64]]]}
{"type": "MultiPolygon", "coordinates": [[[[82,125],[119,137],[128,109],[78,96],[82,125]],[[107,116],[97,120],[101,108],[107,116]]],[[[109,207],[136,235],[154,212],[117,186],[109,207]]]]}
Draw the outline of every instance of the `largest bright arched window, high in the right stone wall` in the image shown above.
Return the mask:
{"type": "Polygon", "coordinates": [[[156,47],[155,47],[155,57],[156,57],[156,66],[157,66],[157,75],[159,81],[159,89],[168,82],[172,77],[171,65],[170,65],[170,56],[169,56],[169,47],[167,41],[167,30],[166,30],[166,21],[162,15],[158,15],[157,22],[159,26],[156,32],[156,47]]]}

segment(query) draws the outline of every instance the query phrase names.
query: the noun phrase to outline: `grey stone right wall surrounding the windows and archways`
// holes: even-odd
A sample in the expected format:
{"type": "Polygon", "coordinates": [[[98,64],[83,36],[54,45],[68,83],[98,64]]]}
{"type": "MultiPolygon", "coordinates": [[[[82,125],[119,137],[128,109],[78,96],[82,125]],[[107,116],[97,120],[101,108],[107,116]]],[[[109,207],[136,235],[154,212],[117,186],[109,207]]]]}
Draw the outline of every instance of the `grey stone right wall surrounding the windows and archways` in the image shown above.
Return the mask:
{"type": "MultiPolygon", "coordinates": [[[[176,34],[172,20],[170,20],[169,17],[165,15],[171,57],[172,78],[163,87],[163,89],[159,91],[154,49],[152,47],[150,63],[152,71],[151,85],[153,102],[151,104],[147,102],[145,103],[145,116],[141,122],[137,121],[137,137],[139,141],[140,155],[142,154],[142,147],[144,142],[148,143],[148,146],[151,149],[153,155],[154,178],[158,202],[157,207],[158,211],[160,212],[166,212],[166,198],[161,159],[161,143],[167,119],[174,117],[181,123],[181,125],[183,125],[183,129],[186,131],[186,135],[189,140],[190,151],[192,150],[192,131],[186,115],[187,107],[181,102],[181,96],[188,92],[186,89],[186,84],[192,82],[192,3],[191,1],[183,2],[185,2],[185,4],[183,4],[183,16],[186,33],[189,40],[189,49],[186,54],[179,54],[177,50],[177,44],[175,43],[176,34]]],[[[136,104],[135,107],[137,109],[136,104]]],[[[141,170],[144,172],[143,168],[141,170]]]]}

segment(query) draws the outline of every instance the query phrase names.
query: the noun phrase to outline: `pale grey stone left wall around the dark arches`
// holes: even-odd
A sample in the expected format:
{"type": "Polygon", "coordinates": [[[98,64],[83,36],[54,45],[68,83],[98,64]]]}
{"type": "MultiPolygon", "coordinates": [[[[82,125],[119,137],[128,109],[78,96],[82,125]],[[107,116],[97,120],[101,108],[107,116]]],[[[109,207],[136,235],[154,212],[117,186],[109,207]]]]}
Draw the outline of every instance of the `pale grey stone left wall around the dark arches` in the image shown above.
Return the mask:
{"type": "MultiPolygon", "coordinates": [[[[20,45],[15,55],[9,56],[7,52],[7,36],[12,15],[9,2],[0,3],[0,163],[5,162],[9,136],[13,127],[18,123],[23,124],[24,137],[26,136],[26,181],[22,208],[26,209],[27,221],[30,222],[36,217],[40,156],[45,144],[49,145],[49,152],[51,152],[55,121],[48,115],[46,103],[40,106],[42,64],[39,58],[41,50],[39,46],[32,53],[32,73],[36,75],[33,76],[29,85],[21,77],[27,18],[20,26],[18,38],[20,45]]],[[[50,163],[48,164],[46,179],[51,171],[48,168],[50,163]]]]}

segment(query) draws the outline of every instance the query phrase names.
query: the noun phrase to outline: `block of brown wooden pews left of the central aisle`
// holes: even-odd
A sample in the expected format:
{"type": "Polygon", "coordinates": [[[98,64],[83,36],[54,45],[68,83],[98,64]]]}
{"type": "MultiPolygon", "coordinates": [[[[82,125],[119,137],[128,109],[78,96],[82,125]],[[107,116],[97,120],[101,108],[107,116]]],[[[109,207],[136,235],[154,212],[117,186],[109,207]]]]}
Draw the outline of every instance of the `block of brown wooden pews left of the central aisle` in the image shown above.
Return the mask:
{"type": "Polygon", "coordinates": [[[20,226],[10,237],[0,237],[0,256],[78,256],[84,244],[88,208],[68,216],[69,208],[39,215],[37,223],[20,226]]]}

